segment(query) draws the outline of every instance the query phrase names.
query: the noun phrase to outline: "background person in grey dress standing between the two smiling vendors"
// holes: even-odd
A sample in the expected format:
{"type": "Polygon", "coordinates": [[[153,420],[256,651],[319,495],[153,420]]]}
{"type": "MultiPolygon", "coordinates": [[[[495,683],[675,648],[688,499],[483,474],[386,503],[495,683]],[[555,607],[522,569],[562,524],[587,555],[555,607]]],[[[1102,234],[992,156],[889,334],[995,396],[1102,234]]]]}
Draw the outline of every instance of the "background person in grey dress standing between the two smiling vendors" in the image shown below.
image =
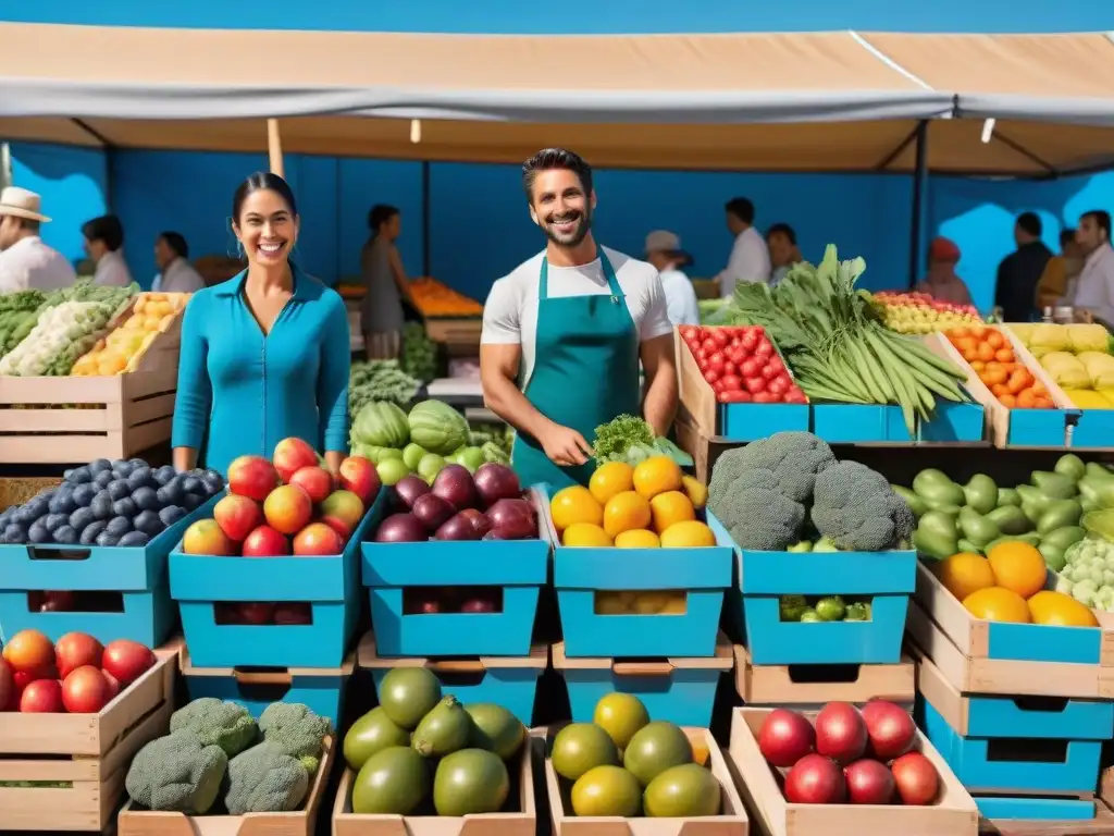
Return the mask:
{"type": "Polygon", "coordinates": [[[402,232],[402,214],[394,206],[378,204],[368,213],[368,227],[371,237],[360,253],[364,286],[361,330],[368,359],[389,360],[399,356],[402,300],[410,293],[410,281],[394,243],[402,232]]]}

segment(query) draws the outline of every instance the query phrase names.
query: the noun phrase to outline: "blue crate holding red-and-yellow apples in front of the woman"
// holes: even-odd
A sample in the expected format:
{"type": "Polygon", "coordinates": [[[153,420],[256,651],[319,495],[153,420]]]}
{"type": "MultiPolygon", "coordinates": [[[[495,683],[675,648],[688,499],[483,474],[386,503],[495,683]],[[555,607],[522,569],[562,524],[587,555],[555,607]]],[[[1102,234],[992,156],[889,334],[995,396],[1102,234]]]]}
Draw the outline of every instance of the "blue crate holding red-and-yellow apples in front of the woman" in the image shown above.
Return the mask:
{"type": "Polygon", "coordinates": [[[370,531],[381,490],[344,552],[313,557],[214,557],[170,554],[170,595],[198,668],[236,665],[338,668],[360,615],[360,543],[370,531]],[[217,624],[223,601],[305,602],[312,623],[217,624]]]}

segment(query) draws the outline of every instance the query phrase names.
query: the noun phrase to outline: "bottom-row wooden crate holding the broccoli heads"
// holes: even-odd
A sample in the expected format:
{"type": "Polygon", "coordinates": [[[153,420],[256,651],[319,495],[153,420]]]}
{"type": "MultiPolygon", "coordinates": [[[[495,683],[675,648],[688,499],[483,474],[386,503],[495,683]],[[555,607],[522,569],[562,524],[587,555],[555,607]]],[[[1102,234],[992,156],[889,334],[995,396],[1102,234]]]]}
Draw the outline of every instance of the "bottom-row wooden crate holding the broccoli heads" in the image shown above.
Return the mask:
{"type": "Polygon", "coordinates": [[[136,809],[129,799],[116,819],[116,836],[314,836],[335,750],[336,740],[326,738],[321,765],[300,810],[247,813],[243,816],[187,816],[184,813],[136,809]]]}

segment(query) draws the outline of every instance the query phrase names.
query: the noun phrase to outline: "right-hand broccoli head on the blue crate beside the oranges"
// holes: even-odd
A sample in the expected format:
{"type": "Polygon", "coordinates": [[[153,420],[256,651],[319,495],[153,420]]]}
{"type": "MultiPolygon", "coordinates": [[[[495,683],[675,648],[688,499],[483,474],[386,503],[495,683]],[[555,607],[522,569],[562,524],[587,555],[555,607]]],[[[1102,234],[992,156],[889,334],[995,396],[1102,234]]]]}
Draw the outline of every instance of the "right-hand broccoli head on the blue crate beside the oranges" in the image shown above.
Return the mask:
{"type": "Polygon", "coordinates": [[[812,524],[842,550],[893,548],[917,524],[886,477],[858,461],[840,461],[817,476],[812,524]]]}

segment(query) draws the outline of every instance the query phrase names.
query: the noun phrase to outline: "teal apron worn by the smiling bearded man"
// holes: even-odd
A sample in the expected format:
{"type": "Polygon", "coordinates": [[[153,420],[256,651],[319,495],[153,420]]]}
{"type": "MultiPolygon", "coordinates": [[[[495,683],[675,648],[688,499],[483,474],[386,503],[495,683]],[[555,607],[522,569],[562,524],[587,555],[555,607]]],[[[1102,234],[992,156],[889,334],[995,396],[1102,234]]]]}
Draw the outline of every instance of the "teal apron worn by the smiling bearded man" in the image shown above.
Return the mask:
{"type": "MultiPolygon", "coordinates": [[[[549,420],[577,430],[590,445],[596,427],[627,412],[638,415],[638,333],[615,270],[599,250],[609,295],[549,298],[549,263],[543,257],[534,371],[522,393],[549,420]]],[[[555,465],[534,438],[517,434],[511,466],[522,485],[551,490],[587,485],[592,458],[577,467],[555,465]]]]}

